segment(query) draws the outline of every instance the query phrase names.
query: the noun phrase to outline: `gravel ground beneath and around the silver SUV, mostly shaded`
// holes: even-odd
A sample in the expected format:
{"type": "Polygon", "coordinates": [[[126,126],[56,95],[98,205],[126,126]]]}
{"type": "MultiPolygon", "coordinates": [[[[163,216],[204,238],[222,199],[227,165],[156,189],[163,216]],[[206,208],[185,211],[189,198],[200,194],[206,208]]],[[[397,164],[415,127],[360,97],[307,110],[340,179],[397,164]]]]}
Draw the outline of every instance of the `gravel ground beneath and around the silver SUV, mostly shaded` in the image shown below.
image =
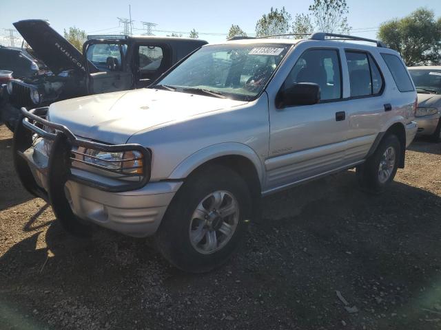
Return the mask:
{"type": "Polygon", "coordinates": [[[441,144],[381,196],[351,170],[262,201],[223,267],[192,275],[145,239],[63,232],[14,174],[0,126],[0,329],[441,329],[441,144]]]}

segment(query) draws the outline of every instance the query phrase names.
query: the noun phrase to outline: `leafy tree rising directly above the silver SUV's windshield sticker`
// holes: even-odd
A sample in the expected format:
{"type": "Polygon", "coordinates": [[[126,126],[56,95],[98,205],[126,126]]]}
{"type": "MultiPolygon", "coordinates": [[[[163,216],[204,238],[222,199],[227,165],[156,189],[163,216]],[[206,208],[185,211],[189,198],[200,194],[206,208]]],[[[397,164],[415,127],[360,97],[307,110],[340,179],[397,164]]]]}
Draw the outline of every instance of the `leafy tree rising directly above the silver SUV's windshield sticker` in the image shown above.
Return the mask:
{"type": "Polygon", "coordinates": [[[274,34],[287,34],[291,28],[292,17],[289,12],[282,7],[281,10],[277,8],[271,10],[268,14],[263,16],[256,23],[256,36],[271,36],[274,34]]]}

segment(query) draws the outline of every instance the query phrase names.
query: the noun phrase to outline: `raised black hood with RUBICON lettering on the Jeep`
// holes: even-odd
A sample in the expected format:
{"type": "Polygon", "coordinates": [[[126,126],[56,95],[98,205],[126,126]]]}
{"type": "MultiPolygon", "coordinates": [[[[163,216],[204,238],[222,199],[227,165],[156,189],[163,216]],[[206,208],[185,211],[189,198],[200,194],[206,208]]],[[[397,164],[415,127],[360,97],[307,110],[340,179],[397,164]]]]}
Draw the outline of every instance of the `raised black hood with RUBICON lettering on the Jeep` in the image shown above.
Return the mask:
{"type": "Polygon", "coordinates": [[[27,19],[15,22],[14,27],[54,74],[70,69],[85,74],[81,52],[52,29],[48,21],[27,19]]]}

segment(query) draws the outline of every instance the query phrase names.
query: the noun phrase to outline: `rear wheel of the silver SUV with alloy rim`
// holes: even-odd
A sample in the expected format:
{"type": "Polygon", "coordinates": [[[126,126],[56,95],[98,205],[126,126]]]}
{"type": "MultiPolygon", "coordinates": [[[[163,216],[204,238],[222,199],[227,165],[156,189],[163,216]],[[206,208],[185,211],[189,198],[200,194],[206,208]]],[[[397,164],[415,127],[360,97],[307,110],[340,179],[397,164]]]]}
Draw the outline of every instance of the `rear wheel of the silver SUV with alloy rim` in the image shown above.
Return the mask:
{"type": "Polygon", "coordinates": [[[356,168],[360,186],[367,192],[374,194],[383,192],[397,173],[400,155],[401,144],[398,137],[393,134],[384,136],[373,155],[367,159],[365,164],[356,168]],[[393,160],[391,152],[395,155],[393,160]],[[380,166],[382,166],[381,171],[380,166]]]}

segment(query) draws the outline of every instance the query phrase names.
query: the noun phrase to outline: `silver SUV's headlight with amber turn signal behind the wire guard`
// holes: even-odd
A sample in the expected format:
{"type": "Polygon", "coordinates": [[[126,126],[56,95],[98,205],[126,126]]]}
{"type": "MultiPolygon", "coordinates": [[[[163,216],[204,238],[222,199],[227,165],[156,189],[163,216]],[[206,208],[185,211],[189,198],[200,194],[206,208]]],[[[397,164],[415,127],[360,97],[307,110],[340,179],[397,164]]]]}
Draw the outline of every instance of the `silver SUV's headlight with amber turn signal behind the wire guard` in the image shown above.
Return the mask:
{"type": "Polygon", "coordinates": [[[88,149],[84,156],[84,162],[103,166],[109,170],[121,170],[124,174],[143,174],[143,155],[138,151],[126,151],[124,153],[108,153],[88,149]]]}

